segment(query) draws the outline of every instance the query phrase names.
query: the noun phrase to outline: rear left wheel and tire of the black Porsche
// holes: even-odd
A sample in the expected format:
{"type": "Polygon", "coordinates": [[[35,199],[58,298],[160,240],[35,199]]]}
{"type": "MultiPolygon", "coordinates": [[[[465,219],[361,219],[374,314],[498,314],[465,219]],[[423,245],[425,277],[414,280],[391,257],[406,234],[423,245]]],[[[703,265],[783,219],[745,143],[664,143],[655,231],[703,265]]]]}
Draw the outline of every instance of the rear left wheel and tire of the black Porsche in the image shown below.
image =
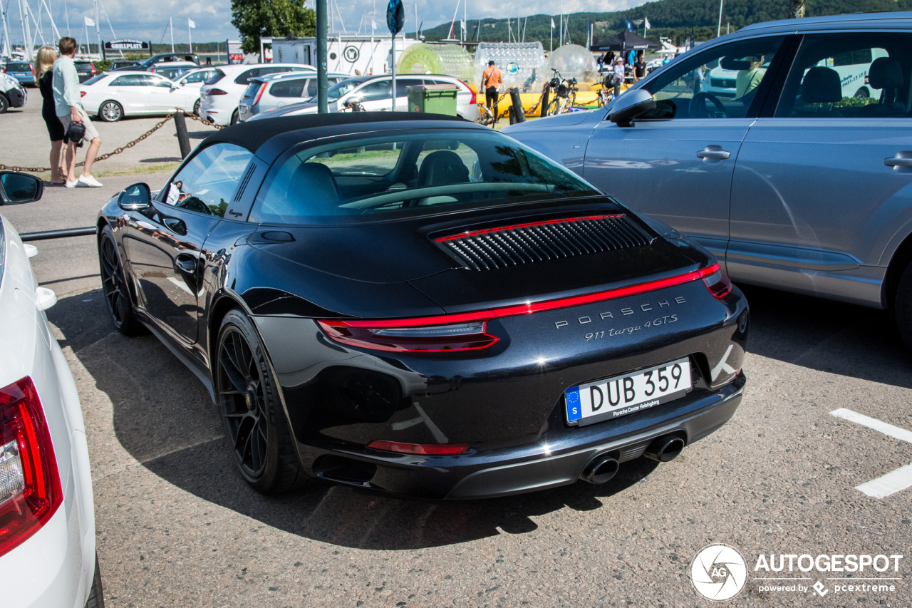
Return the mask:
{"type": "Polygon", "coordinates": [[[266,351],[253,322],[241,310],[225,315],[212,365],[225,435],[244,480],[263,494],[304,486],[307,477],[297,459],[266,351]]]}

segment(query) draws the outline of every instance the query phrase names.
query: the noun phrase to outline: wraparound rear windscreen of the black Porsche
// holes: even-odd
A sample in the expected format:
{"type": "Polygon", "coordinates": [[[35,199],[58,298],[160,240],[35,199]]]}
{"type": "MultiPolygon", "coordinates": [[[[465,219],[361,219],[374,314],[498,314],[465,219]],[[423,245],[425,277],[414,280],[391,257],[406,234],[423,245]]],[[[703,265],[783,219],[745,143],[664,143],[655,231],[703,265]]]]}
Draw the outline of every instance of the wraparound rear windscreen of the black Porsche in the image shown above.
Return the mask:
{"type": "Polygon", "coordinates": [[[564,167],[489,131],[394,131],[287,152],[251,220],[352,223],[598,195],[564,167]]]}

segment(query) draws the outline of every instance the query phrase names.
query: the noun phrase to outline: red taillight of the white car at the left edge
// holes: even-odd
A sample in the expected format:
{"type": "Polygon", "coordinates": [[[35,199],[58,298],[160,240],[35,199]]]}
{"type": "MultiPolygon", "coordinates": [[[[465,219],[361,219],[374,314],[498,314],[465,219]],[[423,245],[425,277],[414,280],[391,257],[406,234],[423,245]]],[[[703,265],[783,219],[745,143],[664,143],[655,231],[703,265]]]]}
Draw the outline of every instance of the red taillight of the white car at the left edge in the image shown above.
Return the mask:
{"type": "Polygon", "coordinates": [[[0,555],[41,529],[62,502],[44,409],[26,376],[0,389],[0,555]]]}

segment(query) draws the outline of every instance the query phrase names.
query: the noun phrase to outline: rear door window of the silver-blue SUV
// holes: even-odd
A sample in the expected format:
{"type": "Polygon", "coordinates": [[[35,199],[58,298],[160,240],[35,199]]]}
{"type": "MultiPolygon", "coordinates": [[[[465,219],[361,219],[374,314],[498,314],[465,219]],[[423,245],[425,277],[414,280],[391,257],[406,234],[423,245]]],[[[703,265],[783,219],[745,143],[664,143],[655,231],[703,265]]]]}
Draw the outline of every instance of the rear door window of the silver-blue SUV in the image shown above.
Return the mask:
{"type": "Polygon", "coordinates": [[[804,37],[782,89],[777,118],[905,118],[912,36],[804,37]]]}

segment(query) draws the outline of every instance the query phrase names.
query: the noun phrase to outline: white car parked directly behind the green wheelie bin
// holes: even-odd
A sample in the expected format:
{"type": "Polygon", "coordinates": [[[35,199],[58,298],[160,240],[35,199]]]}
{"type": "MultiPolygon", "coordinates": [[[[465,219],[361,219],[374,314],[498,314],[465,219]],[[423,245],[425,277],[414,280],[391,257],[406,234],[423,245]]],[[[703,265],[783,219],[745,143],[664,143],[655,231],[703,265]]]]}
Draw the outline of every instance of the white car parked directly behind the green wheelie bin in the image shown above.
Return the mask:
{"type": "MultiPolygon", "coordinates": [[[[422,85],[451,85],[456,87],[456,114],[467,121],[478,118],[478,101],[475,91],[452,76],[440,74],[405,74],[396,77],[396,110],[407,111],[409,87],[422,85]]],[[[392,77],[389,74],[379,76],[359,76],[343,80],[326,91],[330,112],[352,110],[389,111],[392,110],[392,77]]],[[[248,121],[278,116],[295,116],[297,114],[316,114],[316,97],[301,103],[293,103],[282,108],[254,114],[248,121]]]]}

